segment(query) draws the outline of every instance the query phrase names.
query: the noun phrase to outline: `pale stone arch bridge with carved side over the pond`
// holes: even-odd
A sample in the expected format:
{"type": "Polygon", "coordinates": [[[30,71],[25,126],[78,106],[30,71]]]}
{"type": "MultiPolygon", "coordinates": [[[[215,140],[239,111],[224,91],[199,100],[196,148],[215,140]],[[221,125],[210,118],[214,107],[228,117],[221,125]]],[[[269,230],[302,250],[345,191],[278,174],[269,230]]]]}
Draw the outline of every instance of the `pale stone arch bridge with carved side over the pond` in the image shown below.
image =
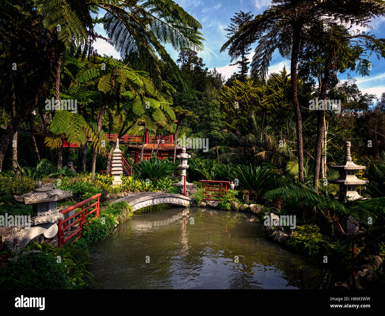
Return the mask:
{"type": "MultiPolygon", "coordinates": [[[[171,204],[182,207],[187,207],[190,204],[192,196],[183,196],[180,194],[159,193],[159,192],[142,192],[124,196],[117,199],[116,202],[127,202],[132,206],[134,211],[154,204],[171,204]]],[[[112,204],[111,203],[111,204],[112,204]]]]}

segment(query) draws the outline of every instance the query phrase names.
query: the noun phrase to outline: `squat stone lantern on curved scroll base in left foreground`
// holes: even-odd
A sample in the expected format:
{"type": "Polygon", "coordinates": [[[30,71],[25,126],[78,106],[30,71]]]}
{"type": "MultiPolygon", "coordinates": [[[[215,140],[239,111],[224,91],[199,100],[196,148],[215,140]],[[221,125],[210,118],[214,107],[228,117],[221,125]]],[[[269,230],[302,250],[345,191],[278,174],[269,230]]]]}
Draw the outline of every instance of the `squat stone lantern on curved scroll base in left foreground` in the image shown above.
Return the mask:
{"type": "Polygon", "coordinates": [[[24,204],[32,204],[33,216],[30,226],[25,225],[13,228],[11,236],[5,240],[12,253],[18,253],[27,246],[32,238],[40,234],[51,238],[57,234],[56,221],[63,218],[63,214],[57,211],[57,201],[72,196],[72,190],[62,191],[53,183],[44,184],[42,181],[35,183],[35,190],[22,196],[14,195],[16,201],[24,204]]]}

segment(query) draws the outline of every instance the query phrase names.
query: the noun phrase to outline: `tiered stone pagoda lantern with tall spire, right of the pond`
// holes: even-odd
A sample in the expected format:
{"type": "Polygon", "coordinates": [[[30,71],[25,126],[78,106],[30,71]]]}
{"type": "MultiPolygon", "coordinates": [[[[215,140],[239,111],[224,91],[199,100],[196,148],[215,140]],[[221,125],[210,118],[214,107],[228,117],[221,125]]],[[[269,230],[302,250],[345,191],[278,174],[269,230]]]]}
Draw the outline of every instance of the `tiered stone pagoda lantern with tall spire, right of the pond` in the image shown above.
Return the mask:
{"type": "Polygon", "coordinates": [[[368,181],[360,180],[356,177],[357,170],[363,170],[365,166],[358,166],[352,161],[350,157],[350,142],[345,142],[345,158],[344,161],[336,166],[330,166],[331,169],[336,169],[340,172],[340,177],[336,180],[329,180],[329,183],[338,184],[340,186],[340,192],[336,194],[335,198],[340,195],[346,195],[347,201],[354,201],[357,199],[363,199],[358,194],[357,185],[367,184],[368,181]]]}

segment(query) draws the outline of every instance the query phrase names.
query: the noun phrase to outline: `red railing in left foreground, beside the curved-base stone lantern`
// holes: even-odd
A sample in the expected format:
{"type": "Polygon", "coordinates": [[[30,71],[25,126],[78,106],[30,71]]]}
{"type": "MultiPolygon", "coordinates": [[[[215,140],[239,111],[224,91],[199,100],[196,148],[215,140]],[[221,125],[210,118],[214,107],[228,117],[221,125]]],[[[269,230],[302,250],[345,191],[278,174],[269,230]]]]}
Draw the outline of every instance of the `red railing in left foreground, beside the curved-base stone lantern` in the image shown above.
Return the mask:
{"type": "MultiPolygon", "coordinates": [[[[76,210],[77,208],[82,208],[79,212],[75,213],[74,215],[71,215],[69,216],[68,218],[64,219],[64,220],[61,220],[59,219],[59,223],[58,223],[58,227],[59,227],[59,248],[62,247],[62,245],[64,245],[68,240],[70,240],[72,237],[74,237],[76,234],[78,235],[77,237],[75,237],[75,240],[79,239],[80,236],[82,235],[82,231],[84,229],[85,226],[87,226],[91,221],[88,221],[88,223],[86,223],[86,218],[88,215],[96,212],[96,215],[95,217],[98,217],[99,216],[99,197],[100,197],[100,193],[92,196],[91,198],[88,198],[82,202],[79,202],[73,206],[70,206],[69,208],[66,208],[65,210],[62,210],[60,211],[60,213],[62,213],[63,215],[64,214],[67,214],[69,213],[70,211],[74,211],[76,210]],[[91,205],[87,206],[87,207],[84,207],[85,204],[93,201],[94,199],[97,199],[96,202],[92,203],[91,205]],[[90,210],[90,208],[94,207],[93,210],[90,210]],[[77,217],[77,220],[73,221],[72,223],[70,223],[69,225],[67,225],[67,222],[71,222],[73,218],[76,218],[77,217]],[[71,228],[72,226],[76,225],[79,223],[79,228],[74,232],[72,233],[70,236],[68,236],[67,238],[64,237],[64,233],[69,229],[71,228]],[[63,227],[62,227],[63,225],[63,227]]],[[[75,241],[74,240],[74,241],[75,241]]],[[[73,242],[74,242],[73,241],[73,242]]]]}

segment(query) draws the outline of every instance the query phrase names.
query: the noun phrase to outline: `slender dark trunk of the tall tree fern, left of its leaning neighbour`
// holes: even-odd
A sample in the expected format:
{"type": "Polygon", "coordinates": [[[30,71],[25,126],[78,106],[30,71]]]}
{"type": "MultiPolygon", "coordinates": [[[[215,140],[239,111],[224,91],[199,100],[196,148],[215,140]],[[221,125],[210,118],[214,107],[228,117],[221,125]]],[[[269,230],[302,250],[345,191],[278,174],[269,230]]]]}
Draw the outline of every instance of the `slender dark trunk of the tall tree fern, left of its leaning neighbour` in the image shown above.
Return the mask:
{"type": "Polygon", "coordinates": [[[293,108],[296,118],[296,130],[297,130],[297,149],[298,149],[298,182],[305,183],[305,177],[303,175],[303,140],[302,140],[302,118],[300,105],[298,103],[298,94],[297,94],[297,63],[298,63],[298,53],[300,47],[300,28],[295,28],[293,32],[293,47],[291,50],[291,64],[290,64],[290,73],[291,73],[291,95],[293,98],[293,108]]]}

